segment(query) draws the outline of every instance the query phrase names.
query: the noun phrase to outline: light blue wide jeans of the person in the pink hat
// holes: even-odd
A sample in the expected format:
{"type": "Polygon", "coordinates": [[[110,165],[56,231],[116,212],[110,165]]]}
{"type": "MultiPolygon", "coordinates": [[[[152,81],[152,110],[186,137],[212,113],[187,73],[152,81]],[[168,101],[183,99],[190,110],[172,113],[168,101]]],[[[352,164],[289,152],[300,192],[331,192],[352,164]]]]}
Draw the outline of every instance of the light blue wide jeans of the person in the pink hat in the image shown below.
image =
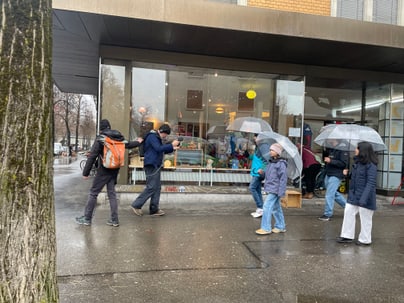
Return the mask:
{"type": "Polygon", "coordinates": [[[261,219],[261,229],[266,231],[272,230],[272,215],[275,218],[274,227],[278,229],[286,229],[285,218],[281,207],[281,198],[275,194],[268,194],[264,203],[264,214],[261,219]]]}

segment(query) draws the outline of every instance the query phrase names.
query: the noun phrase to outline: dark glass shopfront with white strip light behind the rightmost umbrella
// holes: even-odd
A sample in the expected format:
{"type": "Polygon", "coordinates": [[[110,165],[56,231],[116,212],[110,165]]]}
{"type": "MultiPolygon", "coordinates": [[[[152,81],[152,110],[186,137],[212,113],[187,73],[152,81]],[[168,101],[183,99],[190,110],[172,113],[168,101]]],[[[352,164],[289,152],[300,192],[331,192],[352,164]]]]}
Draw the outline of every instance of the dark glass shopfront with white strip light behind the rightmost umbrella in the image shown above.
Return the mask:
{"type": "MultiPolygon", "coordinates": [[[[403,85],[397,84],[310,79],[304,123],[313,137],[328,123],[355,123],[377,130],[387,146],[379,152],[377,187],[397,189],[404,171],[403,92],[403,85]]],[[[312,148],[321,152],[318,145],[312,148]]]]}

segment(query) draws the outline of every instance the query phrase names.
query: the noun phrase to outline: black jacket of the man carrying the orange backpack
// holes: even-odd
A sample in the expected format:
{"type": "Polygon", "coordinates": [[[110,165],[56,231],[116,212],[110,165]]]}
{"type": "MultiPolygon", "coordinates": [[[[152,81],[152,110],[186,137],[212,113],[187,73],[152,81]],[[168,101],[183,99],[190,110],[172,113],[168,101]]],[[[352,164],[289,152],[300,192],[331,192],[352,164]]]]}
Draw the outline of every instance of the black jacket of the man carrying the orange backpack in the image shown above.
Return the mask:
{"type": "MultiPolygon", "coordinates": [[[[110,168],[105,168],[102,165],[101,161],[101,156],[104,153],[104,144],[100,141],[101,135],[105,135],[110,137],[111,139],[117,140],[117,141],[125,141],[124,136],[117,130],[111,130],[111,129],[105,129],[100,133],[100,136],[97,136],[93,146],[91,147],[90,154],[87,157],[87,162],[86,165],[84,166],[83,169],[83,176],[88,177],[90,174],[91,168],[93,165],[98,161],[97,163],[97,175],[115,175],[118,176],[119,173],[119,168],[115,169],[110,169],[110,168]]],[[[140,143],[138,141],[130,141],[125,144],[125,148],[130,149],[139,146],[140,143]]]]}

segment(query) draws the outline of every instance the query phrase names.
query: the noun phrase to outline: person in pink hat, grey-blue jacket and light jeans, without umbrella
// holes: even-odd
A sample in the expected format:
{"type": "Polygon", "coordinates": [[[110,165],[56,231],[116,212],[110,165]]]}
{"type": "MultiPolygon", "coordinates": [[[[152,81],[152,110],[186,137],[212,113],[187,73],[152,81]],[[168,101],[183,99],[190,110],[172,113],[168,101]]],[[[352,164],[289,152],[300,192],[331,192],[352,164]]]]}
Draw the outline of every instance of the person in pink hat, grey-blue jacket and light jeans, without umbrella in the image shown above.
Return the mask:
{"type": "Polygon", "coordinates": [[[287,161],[280,157],[283,148],[279,143],[270,147],[271,159],[265,170],[264,190],[268,196],[264,203],[264,213],[261,219],[261,228],[255,231],[258,235],[286,232],[285,218],[281,207],[281,197],[285,196],[287,176],[287,161]],[[272,229],[272,215],[275,218],[272,229]]]}

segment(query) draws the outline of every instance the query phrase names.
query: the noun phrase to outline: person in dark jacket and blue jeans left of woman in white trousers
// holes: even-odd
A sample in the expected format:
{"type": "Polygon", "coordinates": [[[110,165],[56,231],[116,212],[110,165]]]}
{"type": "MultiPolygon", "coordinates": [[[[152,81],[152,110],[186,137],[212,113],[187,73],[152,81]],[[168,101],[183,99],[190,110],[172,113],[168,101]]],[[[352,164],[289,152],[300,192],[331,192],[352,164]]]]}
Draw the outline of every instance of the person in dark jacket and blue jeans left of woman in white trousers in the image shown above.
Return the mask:
{"type": "Polygon", "coordinates": [[[325,163],[325,207],[324,214],[318,219],[321,221],[329,221],[334,212],[334,202],[337,202],[342,208],[345,208],[346,200],[344,196],[338,192],[338,187],[344,178],[343,170],[348,167],[349,154],[346,142],[337,139],[329,139],[329,146],[327,148],[325,163]]]}

